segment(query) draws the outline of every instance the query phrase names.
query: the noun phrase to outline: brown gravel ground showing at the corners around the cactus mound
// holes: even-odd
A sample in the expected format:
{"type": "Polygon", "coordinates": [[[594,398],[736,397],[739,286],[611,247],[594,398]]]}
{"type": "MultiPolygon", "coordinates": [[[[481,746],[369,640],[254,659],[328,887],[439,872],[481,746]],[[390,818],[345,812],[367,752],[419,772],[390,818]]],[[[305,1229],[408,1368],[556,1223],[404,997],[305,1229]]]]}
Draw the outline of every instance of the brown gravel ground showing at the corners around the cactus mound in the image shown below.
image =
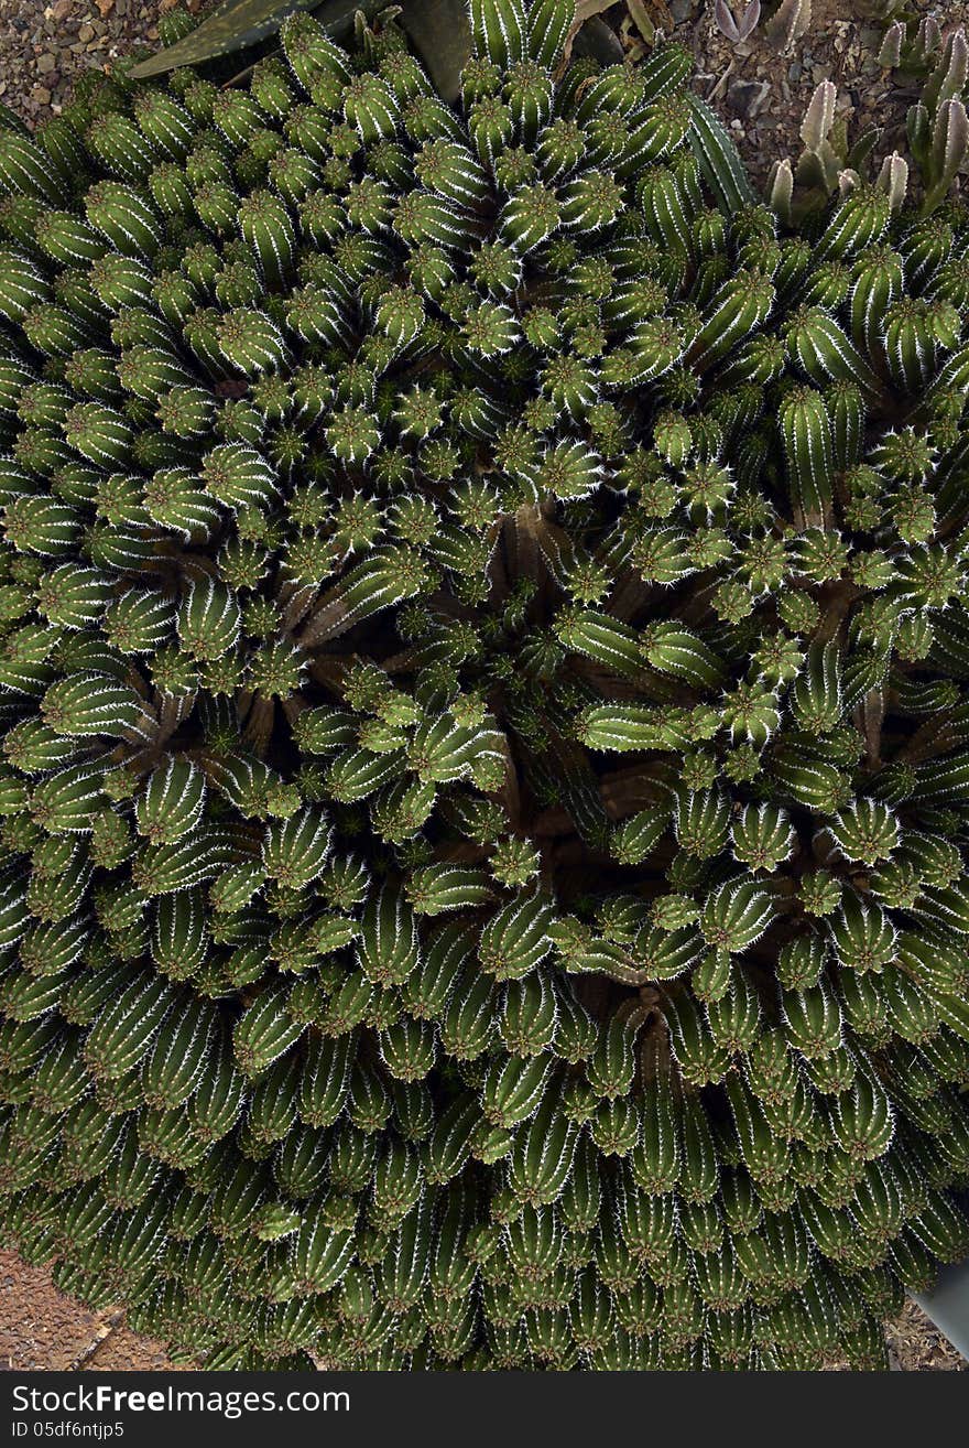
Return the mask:
{"type": "MultiPolygon", "coordinates": [[[[74,78],[90,67],[110,70],[135,45],[158,43],[158,14],[175,0],[0,0],[0,101],[32,125],[56,114],[74,78]]],[[[191,0],[197,9],[201,0],[191,0]]],[[[697,56],[699,87],[730,126],[758,180],[774,159],[800,152],[798,127],[814,87],[837,84],[837,109],[850,133],[871,122],[882,127],[879,152],[904,138],[905,110],[914,91],[878,65],[884,28],[845,16],[843,0],[814,0],[807,33],[780,54],[765,25],[749,41],[732,45],[703,0],[641,0],[649,23],[683,41],[697,56]]],[[[911,10],[927,10],[914,0],[911,10]]],[[[743,13],[743,0],[735,0],[743,13]]],[[[606,14],[635,61],[645,54],[641,32],[625,3],[606,14]]],[[[969,22],[969,0],[950,0],[944,25],[969,22]]],[[[902,1371],[963,1371],[969,1364],[914,1303],[888,1331],[894,1365],[902,1371]]],[[[163,1348],[139,1338],[120,1310],[87,1312],[69,1302],[43,1267],[27,1267],[0,1251],[0,1370],[3,1368],[163,1370],[163,1348]]],[[[836,1367],[836,1364],[833,1364],[836,1367]]]]}

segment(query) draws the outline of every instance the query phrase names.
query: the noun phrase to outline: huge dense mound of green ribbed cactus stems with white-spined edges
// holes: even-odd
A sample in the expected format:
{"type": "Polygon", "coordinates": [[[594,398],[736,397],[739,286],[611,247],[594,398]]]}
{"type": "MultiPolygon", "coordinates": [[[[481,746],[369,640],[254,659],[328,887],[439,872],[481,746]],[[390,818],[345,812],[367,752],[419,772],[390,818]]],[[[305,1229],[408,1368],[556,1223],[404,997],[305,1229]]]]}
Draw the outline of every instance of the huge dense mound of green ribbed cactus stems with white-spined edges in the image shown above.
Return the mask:
{"type": "Polygon", "coordinates": [[[208,1367],[876,1367],[969,1251],[966,213],[725,214],[570,20],[0,136],[3,1232],[208,1367]]]}

